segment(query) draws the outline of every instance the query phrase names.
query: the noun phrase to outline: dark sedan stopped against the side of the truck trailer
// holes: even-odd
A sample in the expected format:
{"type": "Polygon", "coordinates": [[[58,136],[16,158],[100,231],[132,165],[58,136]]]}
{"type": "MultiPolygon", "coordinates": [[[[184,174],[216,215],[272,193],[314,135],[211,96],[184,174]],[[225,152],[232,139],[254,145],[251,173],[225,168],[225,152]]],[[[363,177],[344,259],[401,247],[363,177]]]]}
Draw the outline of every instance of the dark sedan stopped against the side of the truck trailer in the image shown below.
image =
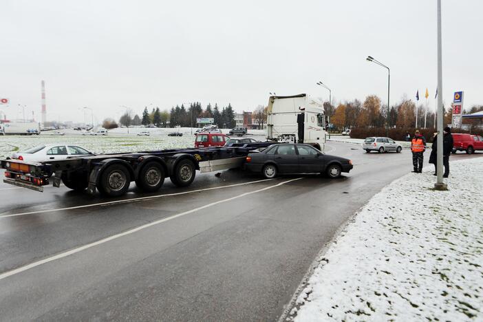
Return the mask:
{"type": "Polygon", "coordinates": [[[308,144],[270,145],[264,151],[248,154],[245,166],[265,178],[275,178],[279,173],[323,173],[337,178],[353,168],[351,160],[324,154],[308,144]]]}

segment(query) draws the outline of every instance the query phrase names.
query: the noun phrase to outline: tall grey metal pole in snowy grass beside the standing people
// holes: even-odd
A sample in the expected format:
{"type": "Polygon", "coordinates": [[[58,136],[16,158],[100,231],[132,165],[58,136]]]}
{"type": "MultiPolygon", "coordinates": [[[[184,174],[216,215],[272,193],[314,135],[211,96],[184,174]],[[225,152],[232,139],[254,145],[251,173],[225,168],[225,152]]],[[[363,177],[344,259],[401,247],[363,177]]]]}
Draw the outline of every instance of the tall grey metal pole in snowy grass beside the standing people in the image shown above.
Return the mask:
{"type": "Polygon", "coordinates": [[[441,0],[438,0],[438,138],[436,140],[436,190],[448,190],[446,184],[442,180],[443,169],[443,111],[442,111],[442,44],[441,44],[441,0]]]}

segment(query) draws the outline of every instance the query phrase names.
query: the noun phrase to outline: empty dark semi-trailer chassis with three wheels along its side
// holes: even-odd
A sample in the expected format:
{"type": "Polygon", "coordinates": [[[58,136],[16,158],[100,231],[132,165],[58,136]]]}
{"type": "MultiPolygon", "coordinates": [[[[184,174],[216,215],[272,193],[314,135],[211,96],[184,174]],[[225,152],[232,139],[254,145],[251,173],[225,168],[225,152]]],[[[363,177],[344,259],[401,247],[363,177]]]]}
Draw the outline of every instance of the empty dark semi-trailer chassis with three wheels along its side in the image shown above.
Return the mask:
{"type": "Polygon", "coordinates": [[[176,186],[189,186],[196,170],[209,172],[240,167],[250,151],[270,144],[274,142],[99,154],[45,162],[0,160],[0,166],[6,170],[3,182],[7,184],[43,192],[43,186],[52,180],[56,187],[63,182],[76,191],[87,189],[87,193],[94,194],[97,189],[102,195],[117,197],[127,192],[132,181],[145,192],[158,191],[168,177],[176,186]]]}

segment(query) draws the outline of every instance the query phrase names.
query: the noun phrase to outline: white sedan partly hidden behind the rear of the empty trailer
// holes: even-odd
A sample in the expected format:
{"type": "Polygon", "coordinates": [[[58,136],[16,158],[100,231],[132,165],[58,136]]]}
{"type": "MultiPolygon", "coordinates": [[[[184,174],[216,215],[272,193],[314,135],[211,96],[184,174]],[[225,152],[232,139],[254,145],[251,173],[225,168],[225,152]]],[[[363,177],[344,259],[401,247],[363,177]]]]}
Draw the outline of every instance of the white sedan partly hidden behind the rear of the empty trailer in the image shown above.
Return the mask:
{"type": "Polygon", "coordinates": [[[23,161],[65,160],[77,155],[89,155],[91,152],[76,145],[45,144],[25,151],[15,152],[12,159],[23,161]]]}

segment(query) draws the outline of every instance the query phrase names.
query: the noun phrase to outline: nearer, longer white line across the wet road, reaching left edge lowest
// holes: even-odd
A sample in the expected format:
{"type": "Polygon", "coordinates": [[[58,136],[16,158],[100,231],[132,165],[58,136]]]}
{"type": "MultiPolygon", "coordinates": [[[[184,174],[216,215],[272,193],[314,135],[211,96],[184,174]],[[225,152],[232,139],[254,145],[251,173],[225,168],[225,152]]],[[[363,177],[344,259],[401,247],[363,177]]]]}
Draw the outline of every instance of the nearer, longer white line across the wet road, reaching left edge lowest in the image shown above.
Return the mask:
{"type": "MultiPolygon", "coordinates": [[[[202,210],[204,208],[208,208],[208,207],[211,207],[211,206],[215,206],[217,204],[222,204],[223,202],[229,202],[231,200],[235,200],[237,198],[245,197],[246,195],[251,195],[253,193],[259,193],[261,191],[266,191],[268,189],[277,188],[277,186],[281,186],[283,184],[287,184],[288,182],[292,182],[292,181],[296,181],[296,180],[301,180],[301,179],[302,178],[295,178],[295,179],[287,180],[287,181],[284,181],[284,182],[280,182],[279,184],[274,184],[273,186],[266,186],[265,188],[262,188],[262,189],[258,189],[258,190],[255,190],[255,191],[250,191],[250,192],[247,192],[247,193],[242,193],[241,195],[235,195],[235,197],[229,197],[229,198],[226,198],[224,200],[219,200],[217,202],[211,202],[211,204],[205,204],[204,206],[201,206],[201,207],[198,207],[198,208],[194,208],[194,209],[191,209],[189,211],[185,211],[184,213],[178,213],[177,215],[173,215],[171,217],[159,219],[159,220],[156,220],[155,222],[150,222],[149,224],[144,224],[142,226],[138,226],[136,228],[127,230],[124,233],[119,233],[119,234],[116,234],[116,235],[112,235],[110,237],[106,237],[104,239],[100,239],[98,241],[94,241],[93,243],[85,244],[84,246],[81,246],[81,247],[78,247],[78,248],[74,248],[72,250],[68,250],[67,252],[60,253],[60,254],[54,255],[52,257],[47,257],[47,258],[42,259],[40,261],[34,261],[31,264],[28,264],[28,265],[25,265],[25,266],[21,266],[19,268],[15,268],[14,270],[10,270],[8,272],[3,272],[3,273],[0,274],[0,280],[1,279],[5,279],[7,277],[10,277],[12,275],[19,274],[20,272],[25,272],[25,270],[30,270],[30,268],[34,268],[36,266],[41,266],[43,264],[50,263],[51,261],[55,261],[57,259],[61,259],[61,258],[70,256],[70,255],[74,255],[75,253],[79,253],[79,252],[81,252],[83,250],[86,250],[88,248],[92,248],[94,246],[98,246],[100,244],[107,243],[107,241],[111,241],[111,240],[114,240],[114,239],[118,239],[118,238],[123,237],[123,236],[126,236],[126,235],[131,235],[133,233],[136,233],[136,232],[138,232],[140,230],[149,228],[151,226],[155,226],[155,225],[158,225],[158,224],[162,224],[163,222],[168,222],[169,220],[172,220],[172,219],[175,219],[175,218],[178,218],[178,217],[182,217],[182,216],[188,215],[190,213],[195,213],[196,211],[200,211],[200,210],[202,210]]],[[[266,180],[261,180],[261,181],[266,181],[266,180]]]]}

